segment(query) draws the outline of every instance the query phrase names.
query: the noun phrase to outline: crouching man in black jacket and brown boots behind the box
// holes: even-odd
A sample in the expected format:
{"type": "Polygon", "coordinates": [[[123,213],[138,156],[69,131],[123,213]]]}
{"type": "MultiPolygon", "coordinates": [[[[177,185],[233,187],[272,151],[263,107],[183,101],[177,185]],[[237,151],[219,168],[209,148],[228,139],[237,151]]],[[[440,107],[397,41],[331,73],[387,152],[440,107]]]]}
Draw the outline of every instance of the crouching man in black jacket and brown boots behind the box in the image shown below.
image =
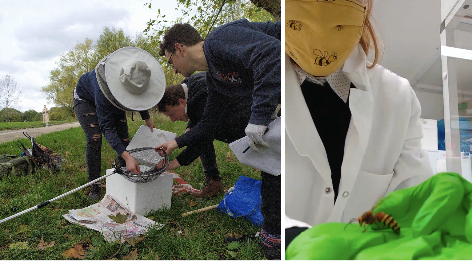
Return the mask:
{"type": "MultiPolygon", "coordinates": [[[[172,122],[187,122],[185,132],[190,131],[202,120],[207,102],[205,76],[206,72],[195,73],[185,78],[181,84],[168,86],[158,104],[159,111],[170,117],[172,122]]],[[[190,196],[208,197],[224,192],[213,140],[231,143],[246,136],[244,129],[251,118],[252,104],[251,96],[232,98],[216,131],[208,133],[205,139],[187,146],[175,160],[169,163],[167,169],[174,170],[179,166],[188,166],[200,157],[205,172],[205,186],[200,192],[193,192],[190,196]]]]}

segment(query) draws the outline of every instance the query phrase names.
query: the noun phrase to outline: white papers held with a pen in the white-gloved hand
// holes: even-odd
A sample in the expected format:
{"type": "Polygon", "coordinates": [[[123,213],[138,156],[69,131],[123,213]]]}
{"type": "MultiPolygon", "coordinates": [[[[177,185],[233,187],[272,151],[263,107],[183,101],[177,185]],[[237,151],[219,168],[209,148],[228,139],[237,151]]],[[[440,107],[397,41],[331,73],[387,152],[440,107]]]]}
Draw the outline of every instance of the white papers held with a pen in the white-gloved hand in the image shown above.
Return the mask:
{"type": "Polygon", "coordinates": [[[258,147],[259,152],[249,148],[247,136],[229,144],[240,163],[267,172],[274,176],[282,173],[282,117],[271,122],[267,128],[269,131],[264,135],[264,141],[269,144],[268,148],[258,147]]]}

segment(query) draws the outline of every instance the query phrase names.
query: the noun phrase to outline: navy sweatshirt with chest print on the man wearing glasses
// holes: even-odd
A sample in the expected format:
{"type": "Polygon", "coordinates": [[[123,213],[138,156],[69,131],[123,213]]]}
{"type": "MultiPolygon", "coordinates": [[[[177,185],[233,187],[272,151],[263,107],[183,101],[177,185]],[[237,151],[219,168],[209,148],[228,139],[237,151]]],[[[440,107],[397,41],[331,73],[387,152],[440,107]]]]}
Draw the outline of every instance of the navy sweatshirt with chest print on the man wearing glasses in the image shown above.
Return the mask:
{"type": "Polygon", "coordinates": [[[240,19],[205,39],[208,98],[202,120],[177,137],[179,148],[204,139],[218,126],[229,100],[253,96],[249,123],[269,125],[281,102],[281,23],[240,19]]]}

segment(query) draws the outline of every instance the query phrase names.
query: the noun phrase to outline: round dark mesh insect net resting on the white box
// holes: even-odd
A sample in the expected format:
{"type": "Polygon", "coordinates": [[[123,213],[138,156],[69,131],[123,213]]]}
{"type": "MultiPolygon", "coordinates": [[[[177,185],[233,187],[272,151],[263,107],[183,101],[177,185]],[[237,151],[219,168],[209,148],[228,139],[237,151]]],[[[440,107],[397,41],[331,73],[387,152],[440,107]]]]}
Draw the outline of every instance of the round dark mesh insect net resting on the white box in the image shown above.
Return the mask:
{"type": "Polygon", "coordinates": [[[113,166],[125,179],[135,183],[151,182],[159,178],[160,174],[169,166],[169,155],[163,149],[137,148],[128,151],[139,164],[140,173],[128,171],[126,161],[118,156],[113,166]]]}

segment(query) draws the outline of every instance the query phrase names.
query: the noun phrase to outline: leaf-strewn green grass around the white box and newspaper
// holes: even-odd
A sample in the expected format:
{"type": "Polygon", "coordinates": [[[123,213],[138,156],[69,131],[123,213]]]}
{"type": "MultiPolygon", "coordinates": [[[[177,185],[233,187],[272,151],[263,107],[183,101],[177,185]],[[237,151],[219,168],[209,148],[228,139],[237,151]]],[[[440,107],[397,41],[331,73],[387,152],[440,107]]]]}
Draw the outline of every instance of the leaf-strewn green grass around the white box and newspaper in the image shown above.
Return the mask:
{"type": "MultiPolygon", "coordinates": [[[[172,131],[178,135],[185,131],[185,122],[172,123],[162,114],[152,115],[152,118],[159,129],[172,131]]],[[[130,137],[134,136],[141,124],[144,125],[144,121],[135,119],[132,122],[128,119],[130,137]]],[[[68,151],[67,162],[57,173],[37,170],[29,176],[0,178],[0,219],[88,182],[85,173],[85,136],[81,128],[52,132],[34,138],[38,143],[51,148],[59,155],[65,156],[68,151]]],[[[28,139],[19,140],[25,145],[30,144],[28,139]]],[[[238,162],[227,144],[215,141],[215,149],[225,188],[234,186],[240,175],[261,179],[259,171],[256,172],[253,168],[238,162]],[[229,156],[228,152],[230,152],[229,156]]],[[[170,155],[170,159],[175,159],[181,150],[175,150],[170,155]]],[[[21,153],[14,141],[0,144],[0,151],[2,154],[20,155],[21,153]]],[[[102,175],[105,174],[106,169],[111,168],[115,157],[116,153],[103,139],[102,175]]],[[[188,167],[177,168],[175,172],[194,188],[202,188],[204,173],[199,159],[188,167]]],[[[102,184],[104,181],[105,179],[102,180],[102,184]]],[[[177,183],[174,182],[174,184],[177,183]]],[[[88,189],[77,191],[39,210],[0,224],[0,260],[73,259],[63,257],[61,253],[77,244],[83,245],[85,260],[110,259],[117,252],[118,244],[107,243],[99,232],[71,224],[61,216],[68,210],[93,204],[87,195],[88,189]],[[27,229],[30,230],[17,233],[20,225],[27,225],[27,229]],[[46,243],[55,241],[54,245],[49,249],[38,250],[37,245],[41,237],[46,243]],[[98,245],[96,250],[89,248],[92,241],[95,247],[98,245]],[[9,244],[16,242],[27,242],[28,246],[25,249],[9,247],[9,244]]],[[[102,196],[104,195],[105,189],[102,190],[102,196]]],[[[189,196],[172,196],[169,210],[149,213],[148,217],[153,216],[156,222],[166,224],[166,226],[160,230],[151,230],[146,234],[146,240],[135,245],[134,248],[125,243],[113,259],[123,260],[127,254],[137,249],[138,260],[225,260],[227,259],[226,255],[230,256],[227,245],[223,242],[226,234],[242,235],[260,230],[248,220],[231,218],[216,210],[182,217],[182,213],[219,204],[222,196],[204,199],[192,198],[197,203],[192,207],[189,206],[186,198],[189,196]],[[185,237],[177,236],[177,230],[184,231],[185,229],[188,231],[185,237]]],[[[236,255],[233,258],[236,260],[262,260],[264,258],[256,243],[244,243],[231,251],[233,255],[236,255]]]]}

